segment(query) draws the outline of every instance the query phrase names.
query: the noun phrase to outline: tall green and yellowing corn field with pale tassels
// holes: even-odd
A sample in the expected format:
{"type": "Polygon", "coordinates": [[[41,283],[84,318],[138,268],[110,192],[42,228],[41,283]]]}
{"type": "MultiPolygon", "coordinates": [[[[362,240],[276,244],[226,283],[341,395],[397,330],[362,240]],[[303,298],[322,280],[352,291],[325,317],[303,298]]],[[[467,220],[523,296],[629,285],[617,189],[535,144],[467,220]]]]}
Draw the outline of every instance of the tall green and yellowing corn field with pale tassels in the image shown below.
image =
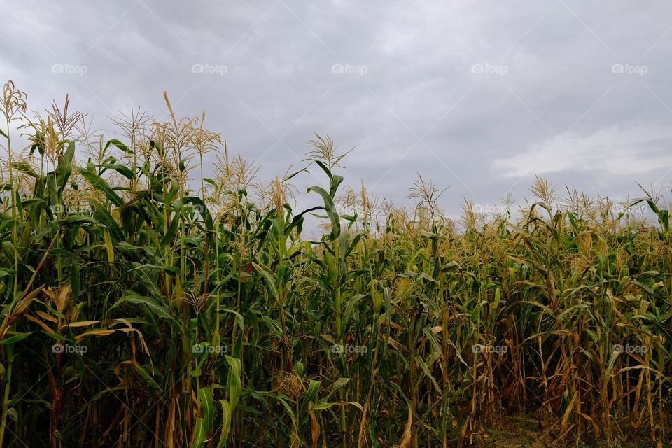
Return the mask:
{"type": "Polygon", "coordinates": [[[261,181],[165,100],[106,138],[3,89],[3,447],[471,447],[515,414],[540,446],[672,444],[658,197],[538,178],[451,219],[422,177],[412,207],[346,187],[330,137],[261,181]]]}

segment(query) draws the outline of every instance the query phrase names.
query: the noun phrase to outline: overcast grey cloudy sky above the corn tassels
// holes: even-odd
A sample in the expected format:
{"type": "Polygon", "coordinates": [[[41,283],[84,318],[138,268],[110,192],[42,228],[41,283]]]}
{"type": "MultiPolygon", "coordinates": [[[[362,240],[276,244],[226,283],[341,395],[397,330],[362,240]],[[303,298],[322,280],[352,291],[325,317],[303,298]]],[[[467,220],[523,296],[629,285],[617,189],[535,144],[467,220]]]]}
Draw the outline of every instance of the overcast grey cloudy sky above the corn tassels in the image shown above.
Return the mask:
{"type": "MultiPolygon", "coordinates": [[[[672,5],[538,0],[0,0],[0,78],[96,127],[208,113],[267,178],[313,133],[346,182],[405,202],[416,172],[498,204],[534,174],[615,200],[672,179],[672,5]]],[[[303,189],[318,180],[307,174],[303,189]]],[[[303,190],[304,191],[304,190],[303,190]]],[[[315,200],[316,201],[316,200],[315,200]]],[[[303,201],[302,201],[303,202],[303,201]]]]}

